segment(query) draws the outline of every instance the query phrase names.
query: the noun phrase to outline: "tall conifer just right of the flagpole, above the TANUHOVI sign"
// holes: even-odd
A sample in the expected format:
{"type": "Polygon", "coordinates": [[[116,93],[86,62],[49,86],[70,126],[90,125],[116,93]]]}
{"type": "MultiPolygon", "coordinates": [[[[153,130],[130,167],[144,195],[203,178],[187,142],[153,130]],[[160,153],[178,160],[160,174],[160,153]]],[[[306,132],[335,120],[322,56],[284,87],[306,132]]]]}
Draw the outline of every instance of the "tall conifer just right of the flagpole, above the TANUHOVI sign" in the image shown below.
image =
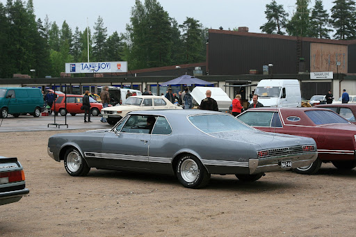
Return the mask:
{"type": "Polygon", "coordinates": [[[102,17],[97,18],[94,26],[95,32],[93,35],[94,46],[92,47],[92,56],[95,61],[104,61],[104,50],[106,46],[107,28],[104,27],[102,17]]]}

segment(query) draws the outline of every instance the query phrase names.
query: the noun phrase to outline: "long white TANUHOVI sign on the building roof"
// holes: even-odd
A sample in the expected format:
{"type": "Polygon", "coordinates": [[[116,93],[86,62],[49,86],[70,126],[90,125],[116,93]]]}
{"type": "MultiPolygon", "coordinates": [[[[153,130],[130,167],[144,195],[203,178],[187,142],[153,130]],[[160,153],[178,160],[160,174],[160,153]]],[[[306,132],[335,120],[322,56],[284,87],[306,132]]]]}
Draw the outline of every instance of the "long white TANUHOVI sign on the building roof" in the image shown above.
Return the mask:
{"type": "Polygon", "coordinates": [[[127,72],[127,62],[65,63],[65,73],[127,72]]]}

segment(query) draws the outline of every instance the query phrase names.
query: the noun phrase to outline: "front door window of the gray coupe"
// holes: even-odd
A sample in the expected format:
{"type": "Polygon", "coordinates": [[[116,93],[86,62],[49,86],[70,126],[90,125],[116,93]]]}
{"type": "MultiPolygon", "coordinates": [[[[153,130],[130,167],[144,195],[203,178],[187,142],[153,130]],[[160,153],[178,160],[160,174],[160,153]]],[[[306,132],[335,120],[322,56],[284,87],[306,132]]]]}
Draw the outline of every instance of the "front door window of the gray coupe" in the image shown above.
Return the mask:
{"type": "Polygon", "coordinates": [[[157,116],[131,115],[122,126],[122,133],[151,133],[157,116]]]}

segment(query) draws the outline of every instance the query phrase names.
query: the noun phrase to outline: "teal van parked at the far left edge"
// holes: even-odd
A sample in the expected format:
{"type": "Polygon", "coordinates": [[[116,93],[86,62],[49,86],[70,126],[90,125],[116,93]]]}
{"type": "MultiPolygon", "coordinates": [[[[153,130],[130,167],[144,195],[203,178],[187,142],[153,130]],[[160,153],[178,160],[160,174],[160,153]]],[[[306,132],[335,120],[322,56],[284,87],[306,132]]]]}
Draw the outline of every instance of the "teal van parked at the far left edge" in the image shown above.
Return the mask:
{"type": "Polygon", "coordinates": [[[38,88],[0,88],[0,117],[27,114],[38,117],[44,111],[43,95],[38,88]]]}

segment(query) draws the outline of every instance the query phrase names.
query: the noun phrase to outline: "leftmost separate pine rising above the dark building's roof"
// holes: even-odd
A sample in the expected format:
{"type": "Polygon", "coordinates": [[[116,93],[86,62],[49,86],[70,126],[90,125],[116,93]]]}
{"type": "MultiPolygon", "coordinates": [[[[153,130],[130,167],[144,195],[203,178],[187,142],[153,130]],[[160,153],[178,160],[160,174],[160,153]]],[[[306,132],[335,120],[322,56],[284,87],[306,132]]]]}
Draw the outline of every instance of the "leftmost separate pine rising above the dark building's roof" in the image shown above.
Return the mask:
{"type": "Polygon", "coordinates": [[[284,35],[282,28],[286,27],[286,17],[289,14],[284,11],[283,5],[277,5],[277,2],[273,0],[270,4],[266,4],[264,13],[266,14],[267,22],[259,27],[261,31],[268,34],[284,35]]]}

